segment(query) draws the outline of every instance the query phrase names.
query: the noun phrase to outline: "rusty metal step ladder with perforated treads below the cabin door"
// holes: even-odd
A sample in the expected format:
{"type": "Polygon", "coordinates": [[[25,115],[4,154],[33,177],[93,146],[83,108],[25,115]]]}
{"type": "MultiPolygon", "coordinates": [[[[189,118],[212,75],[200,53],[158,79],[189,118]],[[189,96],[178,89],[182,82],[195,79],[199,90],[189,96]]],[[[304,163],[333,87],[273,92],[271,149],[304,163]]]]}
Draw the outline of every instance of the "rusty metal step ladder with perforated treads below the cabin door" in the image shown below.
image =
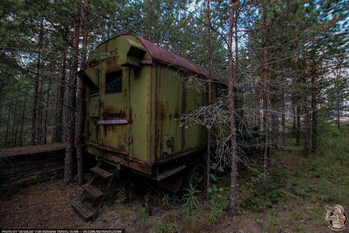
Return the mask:
{"type": "Polygon", "coordinates": [[[80,196],[79,201],[72,203],[72,206],[86,220],[92,218],[92,221],[94,221],[96,219],[96,217],[98,215],[99,208],[101,208],[101,206],[102,206],[102,202],[104,200],[104,197],[106,196],[106,194],[108,193],[108,191],[110,189],[110,186],[113,182],[115,173],[118,171],[117,167],[115,167],[115,170],[113,173],[109,173],[107,171],[104,171],[103,169],[99,168],[99,166],[101,166],[102,162],[107,162],[107,161],[105,161],[103,158],[99,158],[96,167],[90,168],[90,171],[92,171],[93,173],[92,173],[89,181],[86,184],[81,186],[84,190],[82,191],[82,194],[80,196]],[[109,183],[108,183],[107,187],[105,188],[104,192],[99,191],[97,188],[95,188],[94,186],[91,185],[91,182],[96,174],[99,176],[102,176],[105,179],[109,179],[109,183]],[[82,200],[83,200],[86,192],[89,193],[94,198],[101,197],[101,200],[99,201],[99,205],[98,205],[95,212],[92,212],[84,204],[82,204],[82,200]]]}

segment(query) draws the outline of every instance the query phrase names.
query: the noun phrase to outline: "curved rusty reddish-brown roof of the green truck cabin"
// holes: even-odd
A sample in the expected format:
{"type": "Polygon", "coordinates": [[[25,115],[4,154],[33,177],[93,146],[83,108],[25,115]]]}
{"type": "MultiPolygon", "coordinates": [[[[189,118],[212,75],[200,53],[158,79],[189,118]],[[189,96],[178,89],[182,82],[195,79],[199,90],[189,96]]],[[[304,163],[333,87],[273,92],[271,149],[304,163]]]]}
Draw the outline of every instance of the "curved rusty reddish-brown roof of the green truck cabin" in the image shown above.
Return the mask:
{"type": "MultiPolygon", "coordinates": [[[[133,35],[136,38],[138,38],[142,42],[144,48],[146,48],[147,52],[152,57],[153,61],[162,62],[162,63],[165,63],[165,64],[170,65],[170,66],[183,68],[185,70],[190,70],[191,72],[201,74],[201,75],[206,76],[206,77],[208,76],[208,69],[196,64],[193,61],[190,61],[190,60],[183,58],[177,54],[174,54],[168,50],[165,50],[164,48],[162,48],[158,45],[155,45],[155,44],[149,42],[148,40],[143,39],[142,37],[134,35],[132,33],[125,33],[125,34],[118,35],[116,37],[119,37],[122,35],[133,35]]],[[[110,40],[112,40],[112,39],[113,38],[111,38],[110,40]]],[[[224,83],[225,85],[228,85],[228,78],[227,77],[224,77],[223,75],[221,75],[217,72],[214,72],[213,70],[211,70],[210,73],[211,73],[211,79],[214,79],[217,82],[221,82],[221,83],[224,83]]]]}

